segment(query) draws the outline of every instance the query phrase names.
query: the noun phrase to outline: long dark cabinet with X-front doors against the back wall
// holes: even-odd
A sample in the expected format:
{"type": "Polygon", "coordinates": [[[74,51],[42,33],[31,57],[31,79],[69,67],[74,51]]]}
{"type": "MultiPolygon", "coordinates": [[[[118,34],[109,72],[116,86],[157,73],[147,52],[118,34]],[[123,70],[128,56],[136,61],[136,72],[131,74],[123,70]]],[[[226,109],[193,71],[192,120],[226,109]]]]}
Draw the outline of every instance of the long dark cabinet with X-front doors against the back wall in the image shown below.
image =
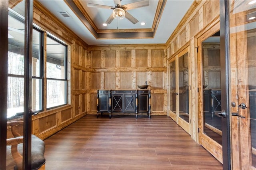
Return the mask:
{"type": "Polygon", "coordinates": [[[150,90],[97,90],[97,118],[99,113],[147,113],[150,116],[150,90]]]}

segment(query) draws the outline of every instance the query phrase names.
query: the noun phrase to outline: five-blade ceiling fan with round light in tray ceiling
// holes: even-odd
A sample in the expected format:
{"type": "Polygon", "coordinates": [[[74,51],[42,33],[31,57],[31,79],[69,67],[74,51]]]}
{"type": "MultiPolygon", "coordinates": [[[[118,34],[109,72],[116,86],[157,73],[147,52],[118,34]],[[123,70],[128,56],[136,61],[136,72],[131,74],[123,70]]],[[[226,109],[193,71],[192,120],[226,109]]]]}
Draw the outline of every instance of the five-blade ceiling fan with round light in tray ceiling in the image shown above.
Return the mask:
{"type": "Polygon", "coordinates": [[[138,2],[133,2],[125,5],[121,5],[121,0],[114,0],[114,4],[116,6],[106,6],[106,5],[100,5],[100,4],[87,3],[87,6],[93,7],[93,8],[112,9],[113,12],[109,16],[109,18],[106,20],[106,24],[110,24],[115,18],[119,20],[123,18],[127,18],[130,22],[132,22],[133,24],[136,24],[139,21],[136,18],[134,18],[131,14],[129,14],[127,10],[149,6],[148,0],[141,0],[138,2]]]}

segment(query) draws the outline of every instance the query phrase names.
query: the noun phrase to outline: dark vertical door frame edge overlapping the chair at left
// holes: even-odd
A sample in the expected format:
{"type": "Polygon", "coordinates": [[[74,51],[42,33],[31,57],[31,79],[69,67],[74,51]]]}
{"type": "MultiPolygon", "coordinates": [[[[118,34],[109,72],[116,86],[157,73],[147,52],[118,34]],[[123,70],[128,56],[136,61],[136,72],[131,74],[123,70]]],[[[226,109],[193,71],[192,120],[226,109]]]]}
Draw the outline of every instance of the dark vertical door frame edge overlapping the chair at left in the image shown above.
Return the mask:
{"type": "Polygon", "coordinates": [[[31,169],[33,0],[25,1],[23,169],[31,169]]]}

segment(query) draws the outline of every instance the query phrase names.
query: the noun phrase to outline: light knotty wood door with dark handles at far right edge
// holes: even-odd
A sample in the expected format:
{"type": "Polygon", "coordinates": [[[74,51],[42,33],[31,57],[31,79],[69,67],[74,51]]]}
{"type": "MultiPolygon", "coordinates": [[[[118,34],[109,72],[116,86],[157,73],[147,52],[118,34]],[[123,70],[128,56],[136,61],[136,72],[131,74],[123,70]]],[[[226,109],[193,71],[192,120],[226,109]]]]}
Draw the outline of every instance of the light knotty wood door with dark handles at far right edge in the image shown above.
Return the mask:
{"type": "Polygon", "coordinates": [[[256,2],[232,1],[228,14],[232,166],[256,169],[256,2]]]}

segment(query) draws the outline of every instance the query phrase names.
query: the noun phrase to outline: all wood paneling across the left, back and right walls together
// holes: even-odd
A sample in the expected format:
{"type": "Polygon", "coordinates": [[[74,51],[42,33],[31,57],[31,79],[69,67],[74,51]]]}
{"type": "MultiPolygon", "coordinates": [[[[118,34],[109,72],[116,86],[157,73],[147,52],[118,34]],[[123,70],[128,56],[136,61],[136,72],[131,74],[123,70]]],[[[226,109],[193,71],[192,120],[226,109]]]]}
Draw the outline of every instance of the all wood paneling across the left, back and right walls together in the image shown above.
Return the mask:
{"type": "MultiPolygon", "coordinates": [[[[192,138],[198,141],[196,38],[218,18],[218,1],[195,1],[166,44],[89,46],[34,1],[38,28],[68,45],[68,105],[44,110],[32,118],[32,133],[44,139],[86,114],[96,114],[97,89],[138,89],[148,81],[152,115],[167,113],[167,63],[190,43],[192,89],[192,138]]],[[[166,21],[168,22],[168,21],[166,21]]],[[[172,22],[172,21],[170,21],[172,22]]]]}

